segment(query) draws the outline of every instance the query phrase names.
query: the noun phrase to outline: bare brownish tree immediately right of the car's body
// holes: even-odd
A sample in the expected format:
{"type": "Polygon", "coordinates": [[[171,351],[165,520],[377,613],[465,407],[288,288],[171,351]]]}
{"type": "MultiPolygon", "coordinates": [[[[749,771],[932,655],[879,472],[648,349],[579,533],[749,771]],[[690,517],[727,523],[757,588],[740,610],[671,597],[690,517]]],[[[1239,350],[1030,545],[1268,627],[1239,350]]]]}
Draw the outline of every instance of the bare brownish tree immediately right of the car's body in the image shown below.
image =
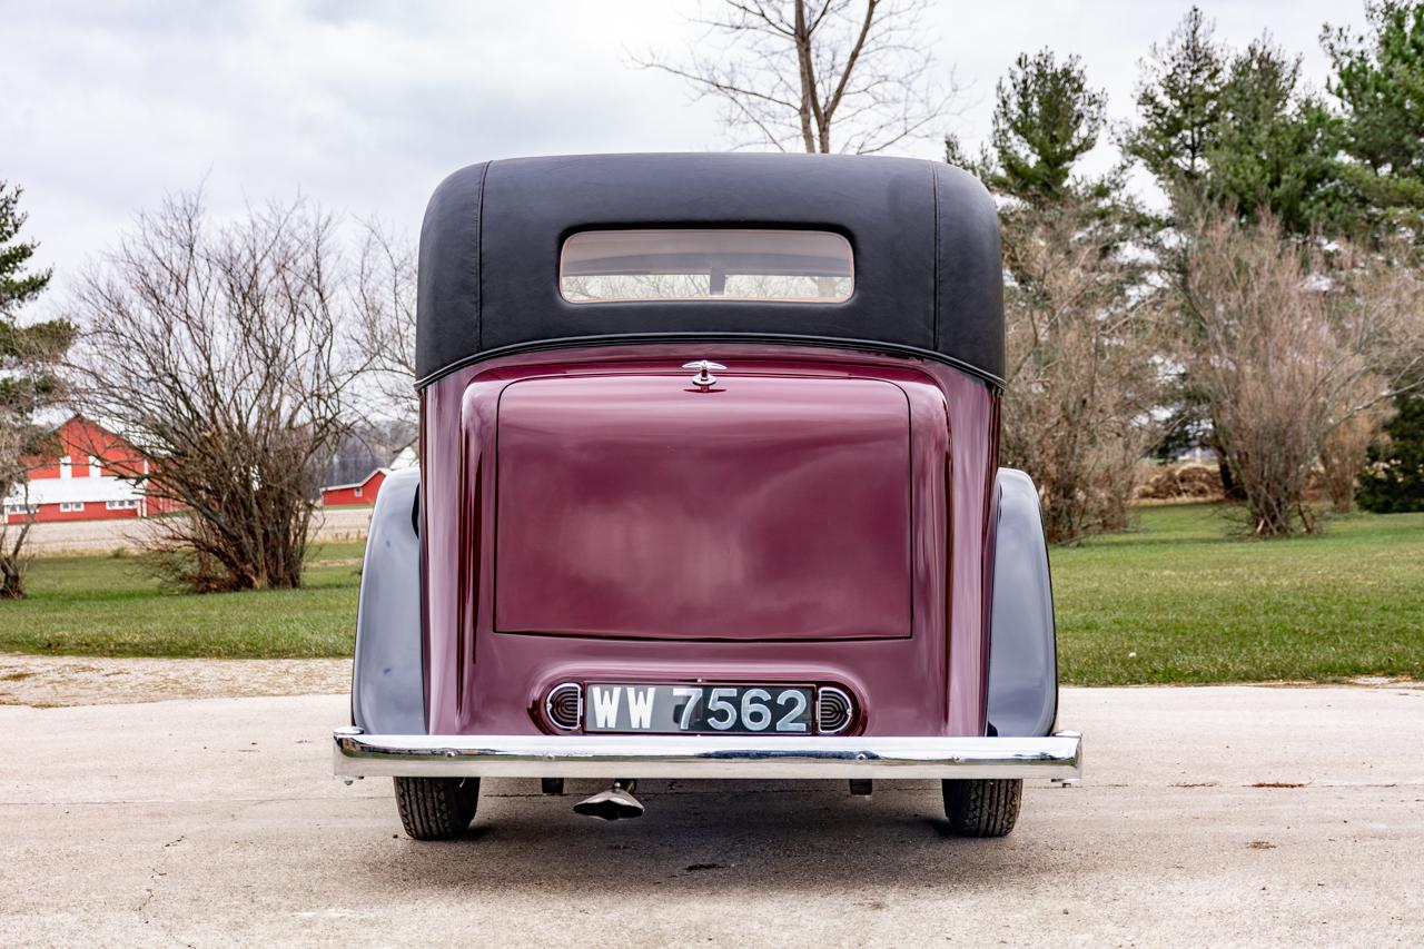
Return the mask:
{"type": "Polygon", "coordinates": [[[1004,222],[1002,457],[1038,484],[1052,543],[1126,526],[1136,463],[1161,436],[1156,299],[1111,228],[1064,202],[1004,222]]]}

